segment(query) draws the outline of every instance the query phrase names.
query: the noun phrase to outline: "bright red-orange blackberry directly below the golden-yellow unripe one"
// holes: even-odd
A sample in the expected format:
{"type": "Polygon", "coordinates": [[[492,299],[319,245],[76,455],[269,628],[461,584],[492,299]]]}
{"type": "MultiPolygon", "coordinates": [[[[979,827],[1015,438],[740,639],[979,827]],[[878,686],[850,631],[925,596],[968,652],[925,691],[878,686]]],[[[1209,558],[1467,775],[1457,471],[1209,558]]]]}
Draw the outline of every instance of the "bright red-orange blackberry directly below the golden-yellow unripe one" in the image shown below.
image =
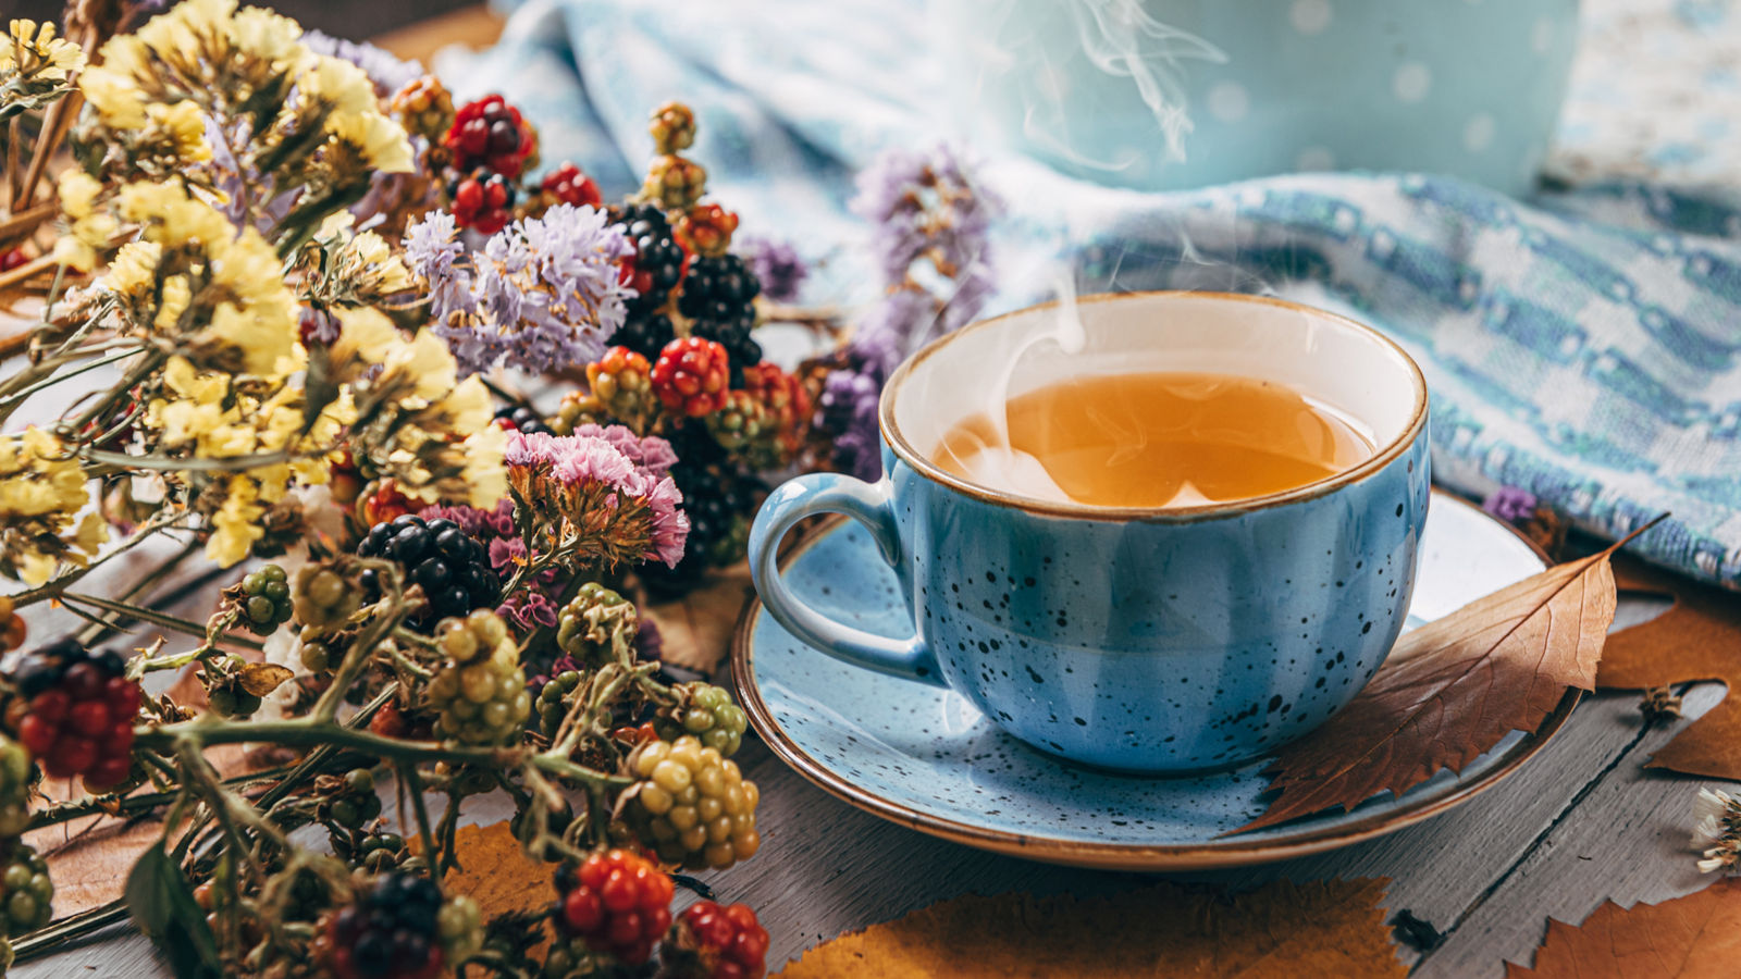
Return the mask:
{"type": "Polygon", "coordinates": [[[670,927],[670,878],[629,850],[592,854],[578,869],[559,868],[555,890],[557,932],[629,965],[651,958],[670,927]]]}

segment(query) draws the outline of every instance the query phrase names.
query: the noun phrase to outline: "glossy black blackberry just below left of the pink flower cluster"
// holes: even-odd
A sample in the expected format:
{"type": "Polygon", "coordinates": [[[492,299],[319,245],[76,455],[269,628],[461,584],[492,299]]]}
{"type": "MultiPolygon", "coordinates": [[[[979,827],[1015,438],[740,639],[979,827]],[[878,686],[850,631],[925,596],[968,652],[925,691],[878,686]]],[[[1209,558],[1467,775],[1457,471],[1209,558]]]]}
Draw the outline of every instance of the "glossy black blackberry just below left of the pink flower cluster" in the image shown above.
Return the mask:
{"type": "MultiPolygon", "coordinates": [[[[418,625],[434,625],[474,608],[494,608],[501,601],[501,580],[489,568],[484,545],[449,519],[425,521],[406,514],[374,524],[357,545],[357,554],[397,561],[406,570],[407,587],[423,585],[428,608],[413,620],[418,625]]],[[[360,578],[371,596],[381,594],[378,571],[367,570],[360,578]]]]}

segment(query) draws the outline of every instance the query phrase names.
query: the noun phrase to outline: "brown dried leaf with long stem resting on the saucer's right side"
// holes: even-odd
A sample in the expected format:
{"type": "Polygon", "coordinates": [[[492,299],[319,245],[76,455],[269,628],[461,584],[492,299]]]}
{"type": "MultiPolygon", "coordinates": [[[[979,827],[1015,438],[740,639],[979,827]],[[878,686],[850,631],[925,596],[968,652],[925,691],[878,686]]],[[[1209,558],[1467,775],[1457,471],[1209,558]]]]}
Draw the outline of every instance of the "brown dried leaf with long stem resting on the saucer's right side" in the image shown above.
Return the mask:
{"type": "Polygon", "coordinates": [[[1513,730],[1536,730],[1567,690],[1593,690],[1614,622],[1612,552],[1548,568],[1405,634],[1348,707],[1276,753],[1264,773],[1280,794],[1234,833],[1402,794],[1513,730]]]}

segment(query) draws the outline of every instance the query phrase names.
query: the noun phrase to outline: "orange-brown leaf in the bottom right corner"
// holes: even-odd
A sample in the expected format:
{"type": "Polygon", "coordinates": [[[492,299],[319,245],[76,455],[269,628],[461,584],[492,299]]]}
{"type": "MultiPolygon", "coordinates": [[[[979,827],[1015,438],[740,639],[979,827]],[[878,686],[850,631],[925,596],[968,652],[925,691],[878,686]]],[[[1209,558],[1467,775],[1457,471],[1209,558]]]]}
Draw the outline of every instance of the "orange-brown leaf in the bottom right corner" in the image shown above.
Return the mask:
{"type": "Polygon", "coordinates": [[[1741,880],[1621,908],[1607,901],[1583,925],[1548,922],[1536,967],[1506,979],[1727,979],[1741,972],[1741,880]]]}

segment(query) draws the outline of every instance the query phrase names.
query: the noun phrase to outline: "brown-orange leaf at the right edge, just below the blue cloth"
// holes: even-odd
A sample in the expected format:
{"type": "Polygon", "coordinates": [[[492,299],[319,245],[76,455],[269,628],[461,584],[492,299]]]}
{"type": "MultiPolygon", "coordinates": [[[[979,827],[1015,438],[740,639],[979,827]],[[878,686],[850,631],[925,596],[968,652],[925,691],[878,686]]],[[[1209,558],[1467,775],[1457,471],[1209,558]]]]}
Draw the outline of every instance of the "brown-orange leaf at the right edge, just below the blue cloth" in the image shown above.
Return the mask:
{"type": "Polygon", "coordinates": [[[1741,596],[1637,561],[1617,563],[1626,591],[1666,594],[1666,613],[1609,636],[1596,686],[1650,688],[1718,679],[1729,695],[1687,725],[1645,768],[1741,780],[1741,596]]]}

